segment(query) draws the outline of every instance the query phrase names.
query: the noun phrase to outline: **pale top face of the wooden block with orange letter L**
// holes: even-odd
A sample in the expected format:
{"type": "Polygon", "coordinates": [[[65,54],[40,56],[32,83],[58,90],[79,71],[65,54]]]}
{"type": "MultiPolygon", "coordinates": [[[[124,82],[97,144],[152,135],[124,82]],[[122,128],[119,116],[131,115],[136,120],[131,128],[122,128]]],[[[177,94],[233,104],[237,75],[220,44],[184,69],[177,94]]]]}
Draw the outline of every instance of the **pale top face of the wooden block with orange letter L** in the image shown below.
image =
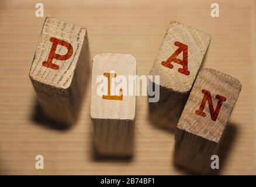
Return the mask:
{"type": "MultiPolygon", "coordinates": [[[[102,53],[93,58],[90,111],[92,119],[134,119],[136,96],[129,95],[128,91],[131,88],[129,76],[136,75],[136,66],[136,59],[130,54],[102,53]],[[108,75],[110,78],[107,77],[108,75]],[[125,85],[118,87],[120,82],[125,83],[123,79],[120,81],[122,77],[127,80],[127,94],[124,93],[125,85]],[[103,91],[100,89],[100,86],[103,85],[103,78],[105,79],[105,88],[107,87],[106,92],[98,94],[97,89],[103,91]],[[117,82],[118,79],[120,82],[117,82]]],[[[136,81],[132,88],[135,90],[136,81]]]]}

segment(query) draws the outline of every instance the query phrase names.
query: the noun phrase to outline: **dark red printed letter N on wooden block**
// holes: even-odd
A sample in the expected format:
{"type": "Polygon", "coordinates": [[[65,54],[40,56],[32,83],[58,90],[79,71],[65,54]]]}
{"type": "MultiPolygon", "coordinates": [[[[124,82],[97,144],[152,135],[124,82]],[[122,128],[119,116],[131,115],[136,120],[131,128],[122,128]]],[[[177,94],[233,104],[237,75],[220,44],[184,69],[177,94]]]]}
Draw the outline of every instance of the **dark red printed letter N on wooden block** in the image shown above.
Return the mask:
{"type": "Polygon", "coordinates": [[[217,119],[217,117],[219,115],[219,112],[220,112],[220,108],[222,107],[222,103],[224,101],[226,101],[226,98],[224,96],[221,96],[221,95],[216,95],[215,98],[218,99],[219,101],[217,103],[216,109],[214,110],[213,103],[212,103],[212,96],[210,95],[210,92],[203,89],[202,93],[204,94],[203,95],[203,100],[202,100],[202,103],[200,105],[199,110],[196,110],[196,114],[199,115],[199,116],[203,116],[203,117],[206,116],[206,113],[203,112],[203,109],[205,109],[205,104],[206,104],[206,101],[207,101],[208,105],[209,105],[209,109],[210,109],[210,117],[212,118],[213,121],[216,122],[216,119],[217,119]]]}

